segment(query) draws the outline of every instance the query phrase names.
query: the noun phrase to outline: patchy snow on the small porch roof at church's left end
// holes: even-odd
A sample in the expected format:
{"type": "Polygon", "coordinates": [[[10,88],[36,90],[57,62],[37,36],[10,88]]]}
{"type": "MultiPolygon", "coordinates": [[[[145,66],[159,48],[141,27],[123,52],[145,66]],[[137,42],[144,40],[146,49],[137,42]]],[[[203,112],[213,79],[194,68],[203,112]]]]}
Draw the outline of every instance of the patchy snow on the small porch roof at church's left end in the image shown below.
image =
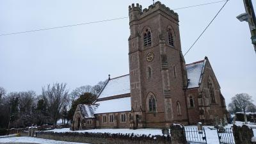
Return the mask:
{"type": "Polygon", "coordinates": [[[84,118],[95,118],[94,111],[97,109],[97,105],[79,104],[79,107],[84,118]]]}

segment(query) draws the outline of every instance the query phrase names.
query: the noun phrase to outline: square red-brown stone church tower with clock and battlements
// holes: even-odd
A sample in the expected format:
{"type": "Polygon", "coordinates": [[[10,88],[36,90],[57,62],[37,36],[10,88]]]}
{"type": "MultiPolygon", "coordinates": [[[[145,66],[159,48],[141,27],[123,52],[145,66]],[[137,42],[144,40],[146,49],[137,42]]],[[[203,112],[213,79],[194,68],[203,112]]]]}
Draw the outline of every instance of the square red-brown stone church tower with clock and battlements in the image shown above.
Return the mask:
{"type": "Polygon", "coordinates": [[[187,124],[186,64],[179,16],[159,2],[129,6],[129,75],[133,127],[187,124]]]}

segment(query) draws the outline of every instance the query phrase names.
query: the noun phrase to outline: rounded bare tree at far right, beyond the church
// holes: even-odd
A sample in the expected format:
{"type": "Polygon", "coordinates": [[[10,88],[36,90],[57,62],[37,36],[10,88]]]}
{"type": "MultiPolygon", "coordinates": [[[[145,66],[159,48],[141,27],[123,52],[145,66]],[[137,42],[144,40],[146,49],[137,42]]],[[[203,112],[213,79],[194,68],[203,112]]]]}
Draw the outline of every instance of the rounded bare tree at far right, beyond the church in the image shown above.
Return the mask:
{"type": "Polygon", "coordinates": [[[244,121],[247,123],[246,112],[252,107],[254,104],[252,103],[252,96],[247,93],[238,93],[235,97],[232,97],[232,102],[228,104],[228,108],[233,109],[234,112],[240,110],[244,113],[244,121]]]}

